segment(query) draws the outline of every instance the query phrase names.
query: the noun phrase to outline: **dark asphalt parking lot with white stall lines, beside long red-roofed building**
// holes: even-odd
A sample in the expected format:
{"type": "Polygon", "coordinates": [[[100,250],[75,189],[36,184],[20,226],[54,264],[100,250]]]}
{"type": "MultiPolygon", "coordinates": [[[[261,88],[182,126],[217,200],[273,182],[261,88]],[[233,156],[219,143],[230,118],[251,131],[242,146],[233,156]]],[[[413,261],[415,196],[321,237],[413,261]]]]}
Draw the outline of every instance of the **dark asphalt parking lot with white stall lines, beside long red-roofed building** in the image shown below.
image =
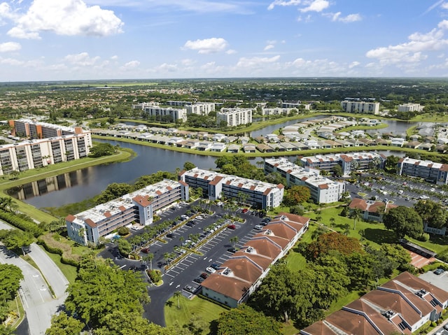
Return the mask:
{"type": "MultiPolygon", "coordinates": [[[[186,215],[191,206],[195,204],[183,205],[179,209],[171,208],[164,213],[160,213],[160,222],[163,220],[174,220],[174,218],[186,215]]],[[[160,269],[162,271],[163,285],[160,287],[148,286],[148,292],[151,297],[151,304],[145,308],[145,317],[158,325],[165,325],[163,316],[163,308],[165,301],[172,297],[174,292],[181,291],[186,297],[192,296],[200,289],[200,276],[202,273],[207,273],[206,269],[212,264],[221,266],[223,262],[229,259],[233,255],[228,249],[232,247],[239,248],[244,245],[252,236],[258,233],[254,227],[260,224],[262,218],[253,215],[251,211],[247,213],[241,213],[238,211],[237,215],[246,220],[245,223],[227,221],[221,228],[217,228],[216,231],[209,236],[205,236],[202,242],[193,247],[195,252],[186,252],[184,257],[174,264],[172,267],[168,267],[165,271],[165,265],[167,259],[165,254],[167,252],[173,252],[176,247],[181,247],[185,241],[193,234],[204,234],[204,229],[211,227],[218,220],[223,220],[225,211],[222,207],[211,206],[211,211],[214,211],[212,215],[203,215],[203,220],[196,220],[195,224],[191,224],[189,227],[186,223],[191,220],[186,220],[175,230],[169,231],[171,237],[164,233],[163,241],[156,240],[151,245],[148,245],[148,252],[153,253],[154,258],[152,261],[153,269],[160,269]],[[235,229],[229,229],[228,225],[235,225],[235,229]],[[230,241],[231,238],[237,241],[230,241]]],[[[158,224],[160,222],[156,222],[158,224]]],[[[143,231],[132,231],[132,234],[141,234],[143,231]]],[[[145,245],[146,247],[146,245],[145,245]]],[[[191,247],[190,247],[191,249],[191,247]]],[[[123,259],[118,256],[118,250],[115,245],[109,246],[107,250],[102,252],[102,257],[109,257],[113,259],[113,262],[120,266],[122,269],[134,269],[141,271],[142,276],[144,274],[145,265],[140,261],[134,261],[130,259],[123,259]]],[[[141,252],[142,257],[146,253],[141,252]]],[[[179,253],[178,253],[179,255],[179,253]]]]}

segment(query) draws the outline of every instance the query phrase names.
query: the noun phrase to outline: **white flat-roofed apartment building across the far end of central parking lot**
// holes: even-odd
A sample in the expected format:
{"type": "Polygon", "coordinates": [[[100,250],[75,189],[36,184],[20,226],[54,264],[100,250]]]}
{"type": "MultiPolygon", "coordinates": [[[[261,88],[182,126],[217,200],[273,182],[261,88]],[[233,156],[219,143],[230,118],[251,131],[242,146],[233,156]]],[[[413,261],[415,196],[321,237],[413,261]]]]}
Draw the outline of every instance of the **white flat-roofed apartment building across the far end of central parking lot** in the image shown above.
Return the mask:
{"type": "Polygon", "coordinates": [[[202,188],[210,200],[239,199],[255,208],[275,208],[283,201],[283,185],[263,183],[259,180],[230,176],[215,171],[191,169],[182,171],[179,180],[193,188],[202,188]]]}

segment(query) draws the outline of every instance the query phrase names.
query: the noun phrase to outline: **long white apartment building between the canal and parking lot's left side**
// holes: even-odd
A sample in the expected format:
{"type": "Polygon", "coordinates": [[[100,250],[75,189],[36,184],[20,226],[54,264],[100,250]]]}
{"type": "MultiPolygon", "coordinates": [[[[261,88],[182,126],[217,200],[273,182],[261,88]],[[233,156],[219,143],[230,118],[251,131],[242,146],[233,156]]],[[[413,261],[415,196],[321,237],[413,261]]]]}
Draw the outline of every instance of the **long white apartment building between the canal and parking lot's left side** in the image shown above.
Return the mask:
{"type": "Polygon", "coordinates": [[[188,185],[176,180],[162,180],[123,197],[90,208],[65,218],[69,238],[77,243],[98,244],[120,227],[133,222],[141,225],[153,223],[155,211],[177,200],[188,200],[188,185]]]}

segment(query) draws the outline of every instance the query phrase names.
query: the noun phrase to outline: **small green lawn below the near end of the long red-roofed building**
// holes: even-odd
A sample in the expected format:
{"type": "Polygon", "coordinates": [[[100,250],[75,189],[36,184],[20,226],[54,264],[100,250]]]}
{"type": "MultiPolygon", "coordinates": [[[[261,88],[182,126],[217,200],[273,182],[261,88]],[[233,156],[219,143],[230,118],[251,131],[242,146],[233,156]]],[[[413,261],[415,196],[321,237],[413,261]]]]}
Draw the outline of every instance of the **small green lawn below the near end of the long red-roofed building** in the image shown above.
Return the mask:
{"type": "MultiPolygon", "coordinates": [[[[179,306],[177,307],[177,299],[171,298],[165,304],[165,322],[167,326],[174,325],[186,325],[190,322],[192,315],[200,315],[202,320],[209,323],[219,318],[219,315],[225,308],[214,304],[200,297],[194,297],[193,299],[187,299],[181,296],[179,298],[179,306]]],[[[203,334],[209,334],[209,329],[203,334]]]]}

